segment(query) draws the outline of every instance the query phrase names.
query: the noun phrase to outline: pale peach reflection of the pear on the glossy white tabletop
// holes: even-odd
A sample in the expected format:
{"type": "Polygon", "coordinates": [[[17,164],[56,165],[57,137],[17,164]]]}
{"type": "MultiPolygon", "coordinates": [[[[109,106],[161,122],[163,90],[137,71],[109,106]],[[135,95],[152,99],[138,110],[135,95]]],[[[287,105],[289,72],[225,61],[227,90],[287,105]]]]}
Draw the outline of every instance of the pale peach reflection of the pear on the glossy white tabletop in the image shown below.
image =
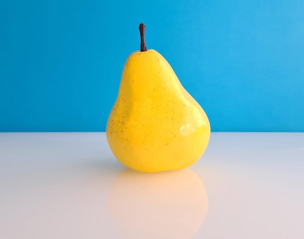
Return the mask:
{"type": "Polygon", "coordinates": [[[208,198],[190,169],[160,173],[124,169],[110,187],[108,207],[122,238],[187,239],[203,224],[208,198]]]}

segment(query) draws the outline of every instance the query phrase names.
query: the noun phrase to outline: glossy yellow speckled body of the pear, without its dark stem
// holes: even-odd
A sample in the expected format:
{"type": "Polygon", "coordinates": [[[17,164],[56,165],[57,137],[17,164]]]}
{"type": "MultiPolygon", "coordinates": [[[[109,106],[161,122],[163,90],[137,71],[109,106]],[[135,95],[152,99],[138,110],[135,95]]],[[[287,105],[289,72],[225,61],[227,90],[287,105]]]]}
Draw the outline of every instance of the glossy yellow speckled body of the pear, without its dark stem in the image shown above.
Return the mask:
{"type": "Polygon", "coordinates": [[[106,137],[114,156],[129,168],[178,170],[201,158],[210,124],[169,63],[151,49],[128,57],[106,137]]]}

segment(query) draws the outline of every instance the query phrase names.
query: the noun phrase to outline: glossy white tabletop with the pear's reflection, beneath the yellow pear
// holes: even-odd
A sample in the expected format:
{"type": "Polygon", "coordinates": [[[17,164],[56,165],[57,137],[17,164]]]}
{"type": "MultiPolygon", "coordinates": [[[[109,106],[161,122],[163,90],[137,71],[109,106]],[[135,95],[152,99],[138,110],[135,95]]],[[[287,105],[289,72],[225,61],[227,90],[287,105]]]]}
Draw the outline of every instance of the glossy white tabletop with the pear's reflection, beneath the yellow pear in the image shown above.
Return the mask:
{"type": "Polygon", "coordinates": [[[104,133],[0,133],[0,238],[304,238],[304,133],[212,133],[189,169],[124,169],[104,133]]]}

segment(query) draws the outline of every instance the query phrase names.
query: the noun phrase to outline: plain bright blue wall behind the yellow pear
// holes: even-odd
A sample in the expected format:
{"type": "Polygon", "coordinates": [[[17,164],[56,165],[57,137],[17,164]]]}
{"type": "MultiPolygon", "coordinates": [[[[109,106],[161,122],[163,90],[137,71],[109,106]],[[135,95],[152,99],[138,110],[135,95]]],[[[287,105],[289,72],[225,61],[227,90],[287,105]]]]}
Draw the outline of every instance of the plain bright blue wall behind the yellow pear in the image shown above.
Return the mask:
{"type": "Polygon", "coordinates": [[[303,0],[0,0],[0,131],[104,131],[123,64],[171,64],[213,131],[304,131],[303,0]]]}

